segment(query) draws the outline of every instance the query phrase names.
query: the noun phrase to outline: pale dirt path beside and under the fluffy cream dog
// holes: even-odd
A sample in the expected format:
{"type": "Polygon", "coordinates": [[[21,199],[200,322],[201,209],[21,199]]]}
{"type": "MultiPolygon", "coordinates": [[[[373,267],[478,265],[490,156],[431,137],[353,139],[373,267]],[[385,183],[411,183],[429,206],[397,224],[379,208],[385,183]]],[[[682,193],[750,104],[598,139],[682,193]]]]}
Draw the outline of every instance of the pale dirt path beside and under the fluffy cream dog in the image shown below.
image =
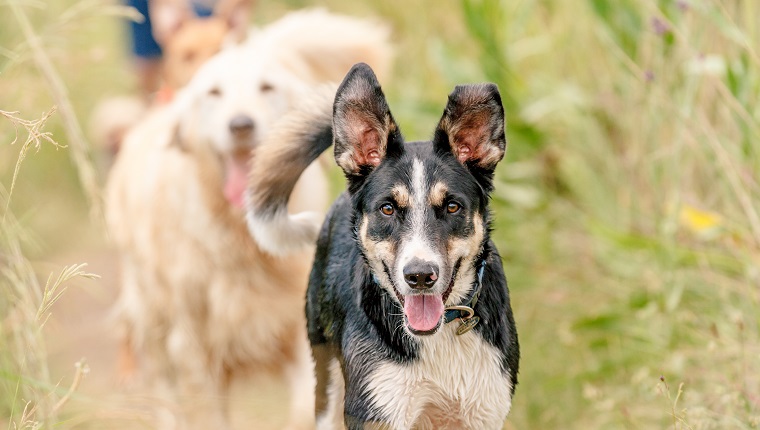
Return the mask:
{"type": "MultiPolygon", "coordinates": [[[[118,343],[109,313],[118,293],[116,254],[103,244],[55,257],[40,268],[58,272],[63,265],[88,263],[101,279],[77,280],[53,308],[46,326],[53,380],[71,384],[75,363],[84,358],[89,373],[65,411],[67,422],[81,429],[149,429],[151,405],[160,403],[139,383],[125,386],[117,377],[118,343]]],[[[273,378],[238,381],[233,388],[232,421],[236,429],[278,429],[285,419],[286,393],[273,378]]]]}

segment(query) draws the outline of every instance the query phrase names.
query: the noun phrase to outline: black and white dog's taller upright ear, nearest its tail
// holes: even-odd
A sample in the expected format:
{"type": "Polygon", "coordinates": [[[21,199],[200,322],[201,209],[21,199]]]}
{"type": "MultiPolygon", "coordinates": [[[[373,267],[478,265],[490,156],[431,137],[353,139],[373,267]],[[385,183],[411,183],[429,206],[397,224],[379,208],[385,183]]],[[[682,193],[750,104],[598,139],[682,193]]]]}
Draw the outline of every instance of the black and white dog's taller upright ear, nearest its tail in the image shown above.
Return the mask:
{"type": "Polygon", "coordinates": [[[364,63],[354,65],[338,87],[333,131],[335,161],[349,178],[367,174],[401,151],[401,132],[375,73],[364,63]]]}

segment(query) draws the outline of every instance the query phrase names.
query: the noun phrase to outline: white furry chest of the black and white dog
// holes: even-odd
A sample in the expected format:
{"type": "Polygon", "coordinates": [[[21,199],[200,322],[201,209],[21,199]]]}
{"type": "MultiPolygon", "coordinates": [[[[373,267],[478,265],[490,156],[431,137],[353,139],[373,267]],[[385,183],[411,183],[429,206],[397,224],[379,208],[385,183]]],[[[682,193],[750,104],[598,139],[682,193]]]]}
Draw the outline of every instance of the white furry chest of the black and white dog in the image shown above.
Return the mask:
{"type": "Polygon", "coordinates": [[[457,336],[457,323],[424,338],[419,359],[382,363],[369,378],[375,406],[397,429],[498,429],[509,413],[510,378],[501,356],[475,332],[457,336]]]}

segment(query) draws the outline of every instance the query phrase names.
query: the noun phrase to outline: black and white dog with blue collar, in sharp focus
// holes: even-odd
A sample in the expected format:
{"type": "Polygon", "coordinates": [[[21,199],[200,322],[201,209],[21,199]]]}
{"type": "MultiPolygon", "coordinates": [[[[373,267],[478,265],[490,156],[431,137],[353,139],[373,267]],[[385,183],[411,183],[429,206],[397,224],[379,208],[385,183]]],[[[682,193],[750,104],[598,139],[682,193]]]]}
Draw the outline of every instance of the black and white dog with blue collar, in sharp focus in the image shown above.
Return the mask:
{"type": "Polygon", "coordinates": [[[305,109],[284,129],[251,173],[249,226],[265,248],[312,234],[313,217],[288,216],[282,196],[330,144],[348,180],[306,297],[319,427],[502,428],[519,346],[489,239],[506,147],[497,87],[457,86],[433,140],[407,143],[374,73],[357,64],[332,116],[305,109]]]}

